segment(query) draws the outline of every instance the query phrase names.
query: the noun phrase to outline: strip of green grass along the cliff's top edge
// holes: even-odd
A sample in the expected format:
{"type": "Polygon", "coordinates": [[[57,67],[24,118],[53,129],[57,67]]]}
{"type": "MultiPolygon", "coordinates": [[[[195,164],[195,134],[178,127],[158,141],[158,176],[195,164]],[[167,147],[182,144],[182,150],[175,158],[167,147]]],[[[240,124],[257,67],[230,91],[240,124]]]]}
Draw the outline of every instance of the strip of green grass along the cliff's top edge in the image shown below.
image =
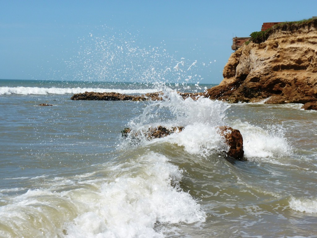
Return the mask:
{"type": "Polygon", "coordinates": [[[314,26],[315,28],[317,28],[317,18],[309,18],[309,19],[304,19],[297,22],[283,22],[283,23],[279,23],[272,26],[266,31],[252,32],[250,35],[251,41],[253,43],[262,43],[266,41],[271,34],[273,34],[274,32],[278,30],[296,31],[306,26],[308,26],[308,28],[310,28],[311,26],[314,26]]]}

